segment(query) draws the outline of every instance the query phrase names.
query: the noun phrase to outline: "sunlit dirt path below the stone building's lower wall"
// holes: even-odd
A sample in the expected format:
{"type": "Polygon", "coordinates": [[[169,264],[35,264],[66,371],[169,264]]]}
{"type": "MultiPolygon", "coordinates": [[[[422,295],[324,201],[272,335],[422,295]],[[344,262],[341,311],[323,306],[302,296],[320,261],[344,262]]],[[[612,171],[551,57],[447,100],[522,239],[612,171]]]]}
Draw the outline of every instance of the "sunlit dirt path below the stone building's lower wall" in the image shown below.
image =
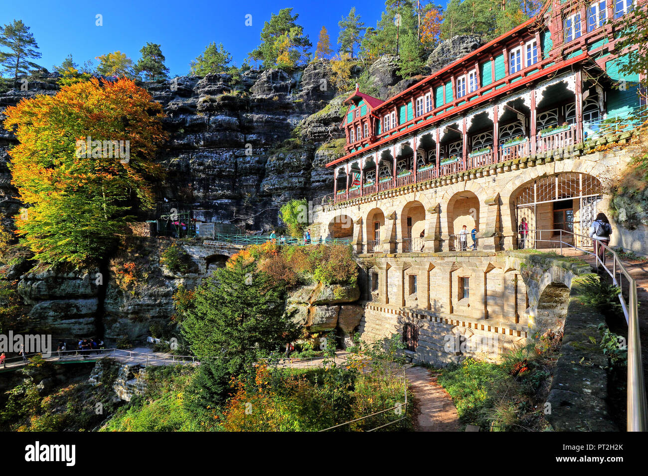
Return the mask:
{"type": "Polygon", "coordinates": [[[450,395],[425,367],[406,368],[405,374],[417,400],[417,431],[459,431],[459,415],[450,395]]]}

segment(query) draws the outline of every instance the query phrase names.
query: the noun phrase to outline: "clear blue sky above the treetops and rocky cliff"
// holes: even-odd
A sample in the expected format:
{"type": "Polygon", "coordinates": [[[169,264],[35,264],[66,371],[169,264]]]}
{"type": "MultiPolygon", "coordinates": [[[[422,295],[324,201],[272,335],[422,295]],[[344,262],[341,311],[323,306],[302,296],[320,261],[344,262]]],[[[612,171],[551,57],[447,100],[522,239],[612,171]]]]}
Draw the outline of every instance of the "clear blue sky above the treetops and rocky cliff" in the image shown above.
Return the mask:
{"type": "MultiPolygon", "coordinates": [[[[43,57],[37,60],[50,71],[71,53],[76,63],[94,60],[111,51],[126,53],[134,61],[146,41],[159,43],[172,74],[189,71],[189,62],[211,41],[222,42],[237,65],[260,43],[259,34],[271,13],[293,7],[315,47],[325,25],[337,48],[338,21],[352,6],[366,26],[376,25],[384,10],[381,0],[273,1],[273,0],[1,0],[0,24],[21,19],[31,28],[43,57]],[[95,25],[96,15],[103,26],[95,25]],[[252,16],[246,27],[245,17],[252,16]]],[[[422,1],[421,3],[427,3],[422,1]]],[[[439,2],[445,3],[445,1],[439,2]]],[[[97,62],[95,61],[95,64],[97,62]]]]}

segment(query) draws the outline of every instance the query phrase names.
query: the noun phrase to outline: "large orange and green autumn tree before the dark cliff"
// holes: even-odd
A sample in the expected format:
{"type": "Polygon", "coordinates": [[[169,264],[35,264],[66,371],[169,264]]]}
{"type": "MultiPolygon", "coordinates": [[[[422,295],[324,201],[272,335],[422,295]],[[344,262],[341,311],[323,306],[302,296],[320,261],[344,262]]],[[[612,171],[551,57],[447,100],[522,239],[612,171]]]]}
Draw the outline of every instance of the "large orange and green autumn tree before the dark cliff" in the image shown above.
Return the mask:
{"type": "Polygon", "coordinates": [[[5,109],[16,135],[12,185],[26,210],[16,228],[38,260],[95,264],[133,205],[154,204],[162,107],[132,80],[92,78],[5,109]]]}

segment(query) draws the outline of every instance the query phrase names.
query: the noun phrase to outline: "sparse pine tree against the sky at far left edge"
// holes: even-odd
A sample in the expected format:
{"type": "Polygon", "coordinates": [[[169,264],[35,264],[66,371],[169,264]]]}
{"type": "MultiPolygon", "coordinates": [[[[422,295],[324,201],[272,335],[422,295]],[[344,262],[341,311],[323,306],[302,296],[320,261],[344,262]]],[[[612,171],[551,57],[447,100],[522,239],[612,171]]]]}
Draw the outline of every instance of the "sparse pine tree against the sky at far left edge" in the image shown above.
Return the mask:
{"type": "Polygon", "coordinates": [[[38,69],[36,63],[29,58],[40,58],[38,44],[29,27],[22,20],[14,20],[0,30],[0,47],[9,51],[0,51],[0,68],[2,73],[13,74],[14,82],[18,76],[29,74],[30,70],[38,69]]]}

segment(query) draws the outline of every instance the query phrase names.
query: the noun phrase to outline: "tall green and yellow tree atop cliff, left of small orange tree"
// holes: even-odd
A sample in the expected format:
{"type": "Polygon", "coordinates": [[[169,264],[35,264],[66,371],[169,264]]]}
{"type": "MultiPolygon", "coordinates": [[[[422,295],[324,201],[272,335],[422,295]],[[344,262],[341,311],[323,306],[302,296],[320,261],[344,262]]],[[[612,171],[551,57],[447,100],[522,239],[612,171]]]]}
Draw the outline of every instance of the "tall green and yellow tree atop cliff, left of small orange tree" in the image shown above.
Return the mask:
{"type": "Polygon", "coordinates": [[[297,64],[308,60],[308,50],[313,46],[297,24],[299,14],[292,14],[292,8],[283,8],[272,14],[270,21],[261,30],[261,44],[249,54],[249,58],[260,59],[265,67],[277,65],[282,56],[284,63],[297,64]]]}

